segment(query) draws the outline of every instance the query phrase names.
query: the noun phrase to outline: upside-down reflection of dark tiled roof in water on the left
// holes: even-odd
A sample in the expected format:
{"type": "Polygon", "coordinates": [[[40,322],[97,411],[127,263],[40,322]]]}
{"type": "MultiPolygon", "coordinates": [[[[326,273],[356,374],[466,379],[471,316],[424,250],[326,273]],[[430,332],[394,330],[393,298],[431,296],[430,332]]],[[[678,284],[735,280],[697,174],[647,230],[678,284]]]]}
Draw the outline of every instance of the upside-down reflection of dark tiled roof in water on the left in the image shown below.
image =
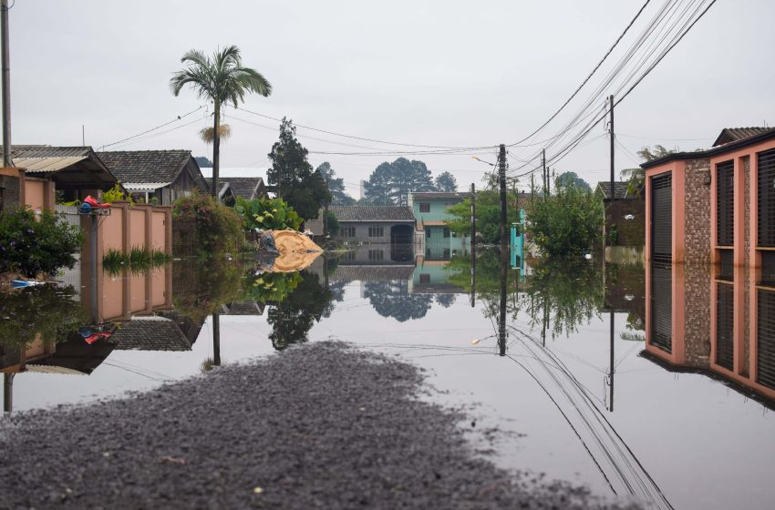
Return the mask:
{"type": "Polygon", "coordinates": [[[191,342],[175,321],[164,317],[132,317],[112,339],[120,351],[191,351],[191,342]]]}

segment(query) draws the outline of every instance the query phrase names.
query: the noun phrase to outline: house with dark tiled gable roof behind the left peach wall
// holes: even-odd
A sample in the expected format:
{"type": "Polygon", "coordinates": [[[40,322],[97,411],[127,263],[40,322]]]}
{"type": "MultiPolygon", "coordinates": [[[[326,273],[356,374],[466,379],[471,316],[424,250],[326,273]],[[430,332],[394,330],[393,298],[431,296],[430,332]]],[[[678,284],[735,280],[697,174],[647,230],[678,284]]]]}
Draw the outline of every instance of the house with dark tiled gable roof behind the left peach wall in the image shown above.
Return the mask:
{"type": "Polygon", "coordinates": [[[190,150],[118,150],[98,157],[134,199],[171,205],[207,184],[190,150]]]}

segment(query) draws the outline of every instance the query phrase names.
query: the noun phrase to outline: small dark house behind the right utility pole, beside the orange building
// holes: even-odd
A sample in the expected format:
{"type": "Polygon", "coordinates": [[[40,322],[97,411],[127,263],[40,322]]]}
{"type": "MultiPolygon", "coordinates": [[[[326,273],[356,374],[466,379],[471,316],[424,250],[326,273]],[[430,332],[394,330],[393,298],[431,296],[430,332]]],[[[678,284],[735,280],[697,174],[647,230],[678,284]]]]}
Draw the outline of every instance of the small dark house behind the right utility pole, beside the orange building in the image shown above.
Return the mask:
{"type": "Polygon", "coordinates": [[[595,193],[605,204],[605,238],[613,246],[646,244],[646,201],[643,190],[631,191],[626,181],[614,182],[614,200],[611,200],[611,181],[597,183],[595,193]]]}

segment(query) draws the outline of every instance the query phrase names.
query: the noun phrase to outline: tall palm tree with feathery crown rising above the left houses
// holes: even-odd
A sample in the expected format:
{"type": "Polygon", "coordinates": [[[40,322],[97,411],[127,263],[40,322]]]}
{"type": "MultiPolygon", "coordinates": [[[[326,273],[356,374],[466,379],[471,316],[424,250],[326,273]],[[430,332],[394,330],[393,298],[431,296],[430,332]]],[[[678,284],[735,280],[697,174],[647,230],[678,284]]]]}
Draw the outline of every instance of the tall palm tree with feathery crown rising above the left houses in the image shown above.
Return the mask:
{"type": "MultiPolygon", "coordinates": [[[[181,89],[191,84],[197,95],[212,101],[214,111],[212,126],[212,196],[218,190],[218,169],[221,152],[221,106],[232,103],[234,107],[244,102],[245,94],[255,92],[263,97],[272,94],[272,84],[261,73],[250,67],[243,67],[240,48],[226,46],[210,56],[191,49],[181,58],[186,68],[174,73],[170,79],[172,94],[178,96],[181,89]]],[[[209,130],[209,128],[207,129],[209,130]]]]}

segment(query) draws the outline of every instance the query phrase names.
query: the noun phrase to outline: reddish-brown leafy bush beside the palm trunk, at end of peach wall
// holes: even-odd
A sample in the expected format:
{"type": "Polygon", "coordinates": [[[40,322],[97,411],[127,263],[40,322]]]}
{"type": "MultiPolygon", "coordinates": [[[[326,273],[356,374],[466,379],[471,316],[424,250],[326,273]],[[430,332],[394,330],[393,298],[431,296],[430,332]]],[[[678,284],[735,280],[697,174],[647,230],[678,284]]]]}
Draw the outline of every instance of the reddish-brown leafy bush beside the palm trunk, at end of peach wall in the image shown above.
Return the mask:
{"type": "Polygon", "coordinates": [[[175,200],[172,217],[196,221],[200,248],[207,254],[236,250],[242,245],[242,217],[210,195],[193,193],[175,200]]]}

